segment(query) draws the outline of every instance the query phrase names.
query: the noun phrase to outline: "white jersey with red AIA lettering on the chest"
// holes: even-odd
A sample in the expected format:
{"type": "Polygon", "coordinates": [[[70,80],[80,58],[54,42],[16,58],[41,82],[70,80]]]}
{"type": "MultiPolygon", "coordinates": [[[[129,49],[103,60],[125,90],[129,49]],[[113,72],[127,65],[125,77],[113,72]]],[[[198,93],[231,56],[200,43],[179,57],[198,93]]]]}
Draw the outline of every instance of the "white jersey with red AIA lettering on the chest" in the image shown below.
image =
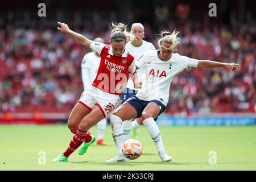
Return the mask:
{"type": "Polygon", "coordinates": [[[135,62],[137,69],[144,69],[142,89],[136,97],[143,101],[158,100],[165,106],[169,100],[172,78],[185,68],[197,67],[198,60],[173,53],[169,60],[162,60],[158,56],[159,50],[144,53],[135,62]]]}

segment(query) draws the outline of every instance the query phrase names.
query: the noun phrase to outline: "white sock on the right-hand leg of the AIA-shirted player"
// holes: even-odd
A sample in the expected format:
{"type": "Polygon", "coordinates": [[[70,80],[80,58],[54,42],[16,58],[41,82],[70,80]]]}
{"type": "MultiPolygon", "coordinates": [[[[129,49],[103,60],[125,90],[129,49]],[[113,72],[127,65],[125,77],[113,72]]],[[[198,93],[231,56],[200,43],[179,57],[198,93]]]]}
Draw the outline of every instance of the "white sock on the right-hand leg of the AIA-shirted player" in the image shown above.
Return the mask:
{"type": "Polygon", "coordinates": [[[156,125],[153,118],[147,118],[143,121],[144,126],[147,128],[150,137],[155,142],[156,149],[158,152],[164,151],[162,137],[158,125],[156,125]]]}

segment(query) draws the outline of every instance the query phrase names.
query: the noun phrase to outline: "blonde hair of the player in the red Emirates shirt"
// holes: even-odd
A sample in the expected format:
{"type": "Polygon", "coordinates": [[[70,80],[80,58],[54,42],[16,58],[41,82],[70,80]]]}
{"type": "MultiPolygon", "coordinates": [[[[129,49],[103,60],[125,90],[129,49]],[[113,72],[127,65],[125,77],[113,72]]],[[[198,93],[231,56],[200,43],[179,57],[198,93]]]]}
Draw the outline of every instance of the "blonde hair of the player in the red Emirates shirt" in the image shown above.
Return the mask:
{"type": "Polygon", "coordinates": [[[123,23],[114,23],[112,22],[109,26],[111,35],[110,41],[111,42],[122,42],[125,43],[129,42],[130,40],[133,41],[135,36],[127,31],[126,25],[123,23]]]}

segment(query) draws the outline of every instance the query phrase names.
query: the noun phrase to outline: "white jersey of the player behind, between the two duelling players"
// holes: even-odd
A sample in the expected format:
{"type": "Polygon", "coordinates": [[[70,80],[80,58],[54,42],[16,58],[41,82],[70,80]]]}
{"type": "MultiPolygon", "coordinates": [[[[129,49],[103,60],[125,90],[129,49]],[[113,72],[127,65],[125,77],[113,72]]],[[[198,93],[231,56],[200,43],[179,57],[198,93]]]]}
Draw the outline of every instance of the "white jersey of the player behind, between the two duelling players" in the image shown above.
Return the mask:
{"type": "MultiPolygon", "coordinates": [[[[131,55],[133,55],[134,57],[134,60],[138,60],[139,57],[141,57],[141,55],[143,55],[144,52],[147,52],[147,51],[150,51],[150,50],[155,50],[155,47],[153,46],[152,43],[150,42],[147,42],[145,40],[142,40],[142,45],[141,46],[133,46],[133,44],[131,44],[131,42],[127,43],[126,44],[126,50],[128,52],[131,53],[131,55]]],[[[141,77],[141,71],[137,70],[137,74],[138,74],[138,77],[139,77],[139,80],[140,77],[141,77]]],[[[127,82],[127,85],[126,85],[126,88],[129,88],[129,89],[133,89],[133,90],[138,90],[136,88],[134,88],[134,83],[133,81],[131,80],[131,78],[129,78],[128,82],[127,82]]]]}

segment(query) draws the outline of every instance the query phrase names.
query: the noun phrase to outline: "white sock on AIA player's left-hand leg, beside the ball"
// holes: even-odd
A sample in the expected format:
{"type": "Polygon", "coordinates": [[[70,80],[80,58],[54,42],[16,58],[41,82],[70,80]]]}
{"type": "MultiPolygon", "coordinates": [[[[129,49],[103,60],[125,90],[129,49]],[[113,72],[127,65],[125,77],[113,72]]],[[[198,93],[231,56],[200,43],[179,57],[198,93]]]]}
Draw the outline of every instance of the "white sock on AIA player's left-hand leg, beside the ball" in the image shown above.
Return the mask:
{"type": "Polygon", "coordinates": [[[122,119],[112,114],[110,115],[110,123],[112,126],[112,137],[115,146],[117,147],[119,154],[123,155],[122,144],[125,142],[125,135],[123,134],[122,119]]]}

